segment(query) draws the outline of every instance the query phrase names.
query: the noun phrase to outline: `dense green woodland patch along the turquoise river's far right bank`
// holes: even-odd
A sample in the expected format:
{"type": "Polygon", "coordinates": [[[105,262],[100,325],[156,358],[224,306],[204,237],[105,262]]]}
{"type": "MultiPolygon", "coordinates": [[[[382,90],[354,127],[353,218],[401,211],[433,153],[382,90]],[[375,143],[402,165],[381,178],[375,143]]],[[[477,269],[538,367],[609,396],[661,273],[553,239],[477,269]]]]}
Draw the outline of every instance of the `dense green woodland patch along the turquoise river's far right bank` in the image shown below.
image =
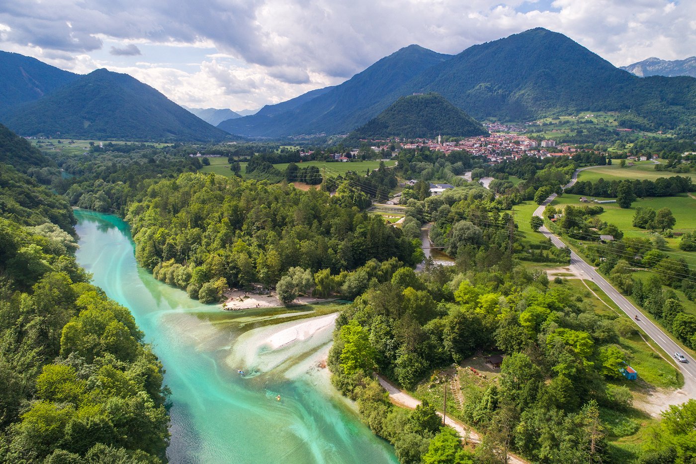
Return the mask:
{"type": "Polygon", "coordinates": [[[418,240],[361,212],[366,199],[347,187],[329,196],[184,173],[151,185],[126,219],[143,267],[213,302],[228,286],[274,286],[296,266],[338,273],[393,257],[415,265],[418,240]]]}

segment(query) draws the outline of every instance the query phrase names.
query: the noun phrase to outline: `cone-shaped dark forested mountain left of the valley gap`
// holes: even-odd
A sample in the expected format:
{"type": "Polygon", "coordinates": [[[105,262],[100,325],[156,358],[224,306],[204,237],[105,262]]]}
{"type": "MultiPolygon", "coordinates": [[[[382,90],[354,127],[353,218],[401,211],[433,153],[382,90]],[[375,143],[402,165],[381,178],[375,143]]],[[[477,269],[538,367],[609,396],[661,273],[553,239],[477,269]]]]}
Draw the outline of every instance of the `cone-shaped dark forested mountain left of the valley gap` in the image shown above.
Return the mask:
{"type": "Polygon", "coordinates": [[[228,135],[154,88],[98,69],[35,102],[6,111],[11,130],[28,136],[112,140],[221,140],[228,135]]]}

